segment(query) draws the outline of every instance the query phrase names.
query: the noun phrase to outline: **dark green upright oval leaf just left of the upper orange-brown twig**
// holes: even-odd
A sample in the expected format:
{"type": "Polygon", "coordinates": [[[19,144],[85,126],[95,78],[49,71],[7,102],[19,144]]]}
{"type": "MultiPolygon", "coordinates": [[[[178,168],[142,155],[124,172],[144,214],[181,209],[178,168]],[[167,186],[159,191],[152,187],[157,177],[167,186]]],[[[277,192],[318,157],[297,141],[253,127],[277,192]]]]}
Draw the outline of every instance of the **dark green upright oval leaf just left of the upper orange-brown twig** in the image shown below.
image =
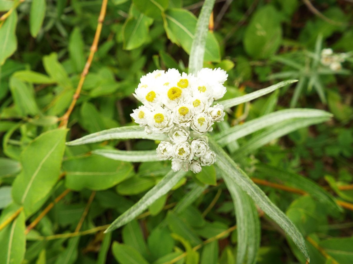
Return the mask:
{"type": "Polygon", "coordinates": [[[68,52],[77,73],[80,73],[85,66],[84,42],[79,27],[75,27],[68,42],[68,52]]]}

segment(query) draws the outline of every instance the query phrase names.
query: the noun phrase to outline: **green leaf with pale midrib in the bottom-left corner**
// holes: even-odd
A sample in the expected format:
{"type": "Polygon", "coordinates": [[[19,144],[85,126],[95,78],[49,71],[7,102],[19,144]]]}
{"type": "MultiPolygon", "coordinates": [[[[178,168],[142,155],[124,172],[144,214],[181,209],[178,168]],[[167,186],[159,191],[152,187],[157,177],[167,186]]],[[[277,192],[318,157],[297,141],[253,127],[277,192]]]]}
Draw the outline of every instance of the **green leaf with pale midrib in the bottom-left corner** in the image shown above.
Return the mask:
{"type": "MultiPolygon", "coordinates": [[[[2,212],[0,222],[4,222],[10,215],[4,214],[6,209],[2,212]]],[[[13,213],[12,211],[11,213],[13,213]]],[[[24,259],[24,252],[26,250],[25,231],[25,216],[21,212],[11,224],[0,231],[0,259],[4,264],[22,263],[24,259]]]]}

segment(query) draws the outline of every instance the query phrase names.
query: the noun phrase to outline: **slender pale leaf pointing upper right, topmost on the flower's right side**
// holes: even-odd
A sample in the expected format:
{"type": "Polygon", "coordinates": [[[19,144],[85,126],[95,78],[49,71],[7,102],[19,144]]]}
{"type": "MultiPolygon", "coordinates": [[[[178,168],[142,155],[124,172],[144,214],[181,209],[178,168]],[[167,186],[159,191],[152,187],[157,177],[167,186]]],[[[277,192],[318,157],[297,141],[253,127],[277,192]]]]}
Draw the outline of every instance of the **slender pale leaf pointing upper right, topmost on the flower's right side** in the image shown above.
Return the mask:
{"type": "Polygon", "coordinates": [[[283,86],[286,86],[287,84],[291,84],[291,83],[294,83],[294,82],[298,82],[298,80],[287,80],[287,81],[279,82],[279,83],[271,85],[271,86],[269,86],[267,88],[258,90],[256,92],[253,92],[253,93],[250,93],[250,94],[246,94],[246,95],[243,95],[243,96],[239,96],[239,97],[236,97],[236,98],[233,98],[233,99],[223,100],[223,101],[220,101],[218,103],[223,105],[224,108],[226,108],[226,109],[227,108],[231,108],[233,106],[240,105],[241,103],[249,102],[249,101],[251,101],[253,99],[256,99],[258,97],[261,97],[261,96],[263,96],[265,94],[271,93],[271,92],[273,92],[274,90],[276,90],[278,88],[281,88],[283,86]]]}

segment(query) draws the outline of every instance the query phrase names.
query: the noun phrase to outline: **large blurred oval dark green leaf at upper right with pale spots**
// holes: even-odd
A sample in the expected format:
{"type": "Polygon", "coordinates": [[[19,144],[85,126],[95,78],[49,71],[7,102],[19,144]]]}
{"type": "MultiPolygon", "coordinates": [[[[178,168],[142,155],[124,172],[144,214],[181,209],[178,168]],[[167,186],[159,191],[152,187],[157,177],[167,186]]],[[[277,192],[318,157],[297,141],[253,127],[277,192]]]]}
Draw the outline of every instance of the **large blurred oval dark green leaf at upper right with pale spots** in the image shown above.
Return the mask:
{"type": "Polygon", "coordinates": [[[243,44],[247,54],[255,59],[269,58],[282,42],[280,14],[271,6],[259,8],[245,30],[243,44]]]}

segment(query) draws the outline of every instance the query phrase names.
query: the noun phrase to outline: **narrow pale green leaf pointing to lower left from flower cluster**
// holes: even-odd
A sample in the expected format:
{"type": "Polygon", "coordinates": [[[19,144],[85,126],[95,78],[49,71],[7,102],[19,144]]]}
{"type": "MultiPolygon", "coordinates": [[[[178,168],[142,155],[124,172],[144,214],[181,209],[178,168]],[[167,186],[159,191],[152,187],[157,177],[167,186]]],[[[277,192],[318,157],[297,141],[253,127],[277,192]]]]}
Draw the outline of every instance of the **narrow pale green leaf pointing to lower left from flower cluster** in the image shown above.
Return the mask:
{"type": "Polygon", "coordinates": [[[128,209],[125,213],[120,215],[115,221],[108,227],[105,232],[110,232],[125,225],[132,219],[135,219],[140,213],[147,209],[154,201],[156,201],[162,195],[168,193],[175,184],[177,184],[181,178],[185,176],[185,171],[173,172],[170,171],[164,178],[156,184],[155,187],[150,189],[134,206],[128,209]]]}

